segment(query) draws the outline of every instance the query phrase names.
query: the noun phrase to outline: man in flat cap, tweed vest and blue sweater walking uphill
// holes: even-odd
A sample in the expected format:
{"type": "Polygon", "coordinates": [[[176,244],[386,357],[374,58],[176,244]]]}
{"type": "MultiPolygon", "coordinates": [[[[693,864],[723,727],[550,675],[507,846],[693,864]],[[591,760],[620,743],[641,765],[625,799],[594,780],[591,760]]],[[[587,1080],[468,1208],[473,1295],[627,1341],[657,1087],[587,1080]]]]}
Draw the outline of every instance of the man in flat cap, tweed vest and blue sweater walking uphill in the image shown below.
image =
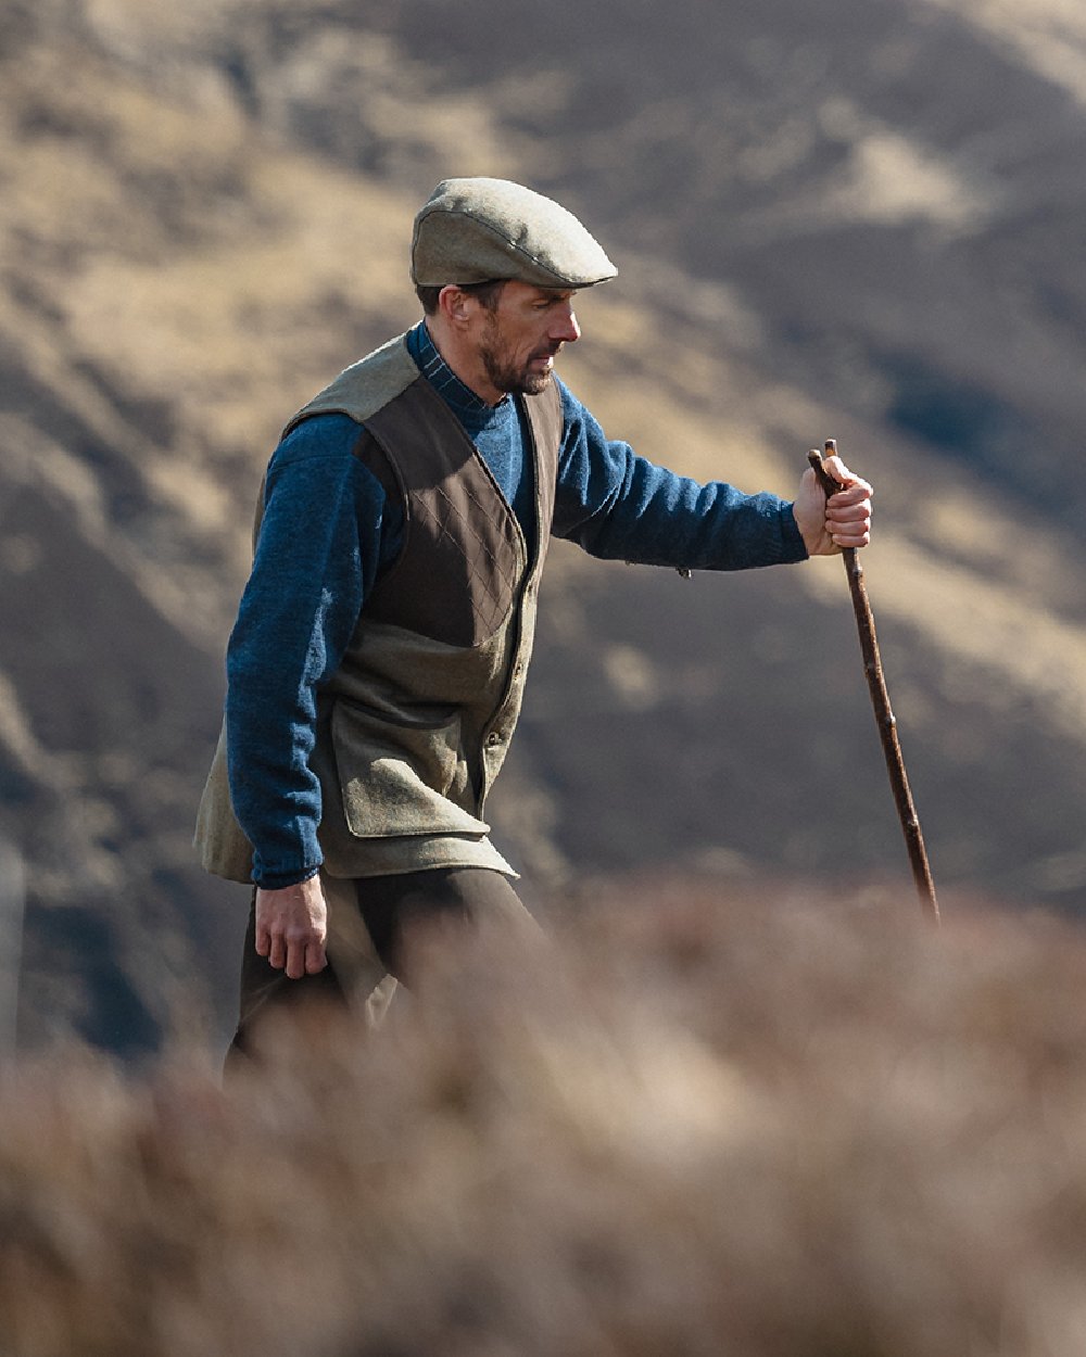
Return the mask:
{"type": "Polygon", "coordinates": [[[516,726],[551,535],[736,570],[865,546],[870,486],[828,502],[699,486],[608,441],[554,376],[574,294],[616,270],[558,204],[451,179],[415,218],[425,319],[286,425],[232,632],[205,866],[255,882],[243,1049],[314,991],[410,973],[413,920],[523,911],[485,802],[516,726]]]}

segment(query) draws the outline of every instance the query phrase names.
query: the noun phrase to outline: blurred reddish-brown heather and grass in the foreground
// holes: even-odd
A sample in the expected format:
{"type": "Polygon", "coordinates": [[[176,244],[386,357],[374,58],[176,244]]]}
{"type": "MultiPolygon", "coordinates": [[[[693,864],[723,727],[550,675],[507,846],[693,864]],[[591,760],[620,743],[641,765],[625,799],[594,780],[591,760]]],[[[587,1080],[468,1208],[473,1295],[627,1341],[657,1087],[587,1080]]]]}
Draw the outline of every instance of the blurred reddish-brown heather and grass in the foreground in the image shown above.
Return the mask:
{"type": "Polygon", "coordinates": [[[225,1088],[8,1071],[0,1350],[1086,1352],[1072,925],[642,882],[434,942],[380,1033],[225,1088]]]}

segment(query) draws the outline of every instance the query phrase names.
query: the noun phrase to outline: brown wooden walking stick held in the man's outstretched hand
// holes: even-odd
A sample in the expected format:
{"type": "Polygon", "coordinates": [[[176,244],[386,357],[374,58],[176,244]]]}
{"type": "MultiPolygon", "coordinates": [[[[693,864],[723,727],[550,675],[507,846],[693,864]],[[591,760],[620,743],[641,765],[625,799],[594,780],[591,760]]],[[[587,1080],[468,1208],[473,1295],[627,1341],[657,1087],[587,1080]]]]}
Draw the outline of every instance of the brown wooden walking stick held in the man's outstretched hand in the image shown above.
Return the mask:
{"type": "MultiPolygon", "coordinates": [[[[827,453],[835,453],[838,445],[832,438],[827,440],[827,453]]],[[[843,490],[840,482],[835,480],[825,470],[821,453],[812,448],[808,461],[814,468],[819,483],[829,495],[843,490]]],[[[874,634],[874,613],[867,601],[867,588],[863,584],[863,567],[859,563],[855,547],[844,547],[842,551],[844,570],[848,575],[848,592],[853,596],[853,611],[857,615],[857,628],[859,630],[859,649],[863,651],[863,672],[867,676],[867,689],[872,695],[878,734],[882,740],[882,753],[886,757],[886,768],[891,775],[893,799],[897,805],[897,816],[905,835],[908,860],[912,864],[912,879],[916,882],[916,893],[920,897],[920,908],[933,923],[939,921],[939,904],[935,900],[935,883],[931,879],[931,868],[924,851],[924,836],[920,832],[920,821],[916,807],[912,805],[912,792],[908,788],[905,775],[905,761],[901,757],[901,745],[897,742],[897,719],[891,708],[891,697],[886,692],[886,680],[882,676],[882,661],[878,654],[878,638],[874,634]]]]}

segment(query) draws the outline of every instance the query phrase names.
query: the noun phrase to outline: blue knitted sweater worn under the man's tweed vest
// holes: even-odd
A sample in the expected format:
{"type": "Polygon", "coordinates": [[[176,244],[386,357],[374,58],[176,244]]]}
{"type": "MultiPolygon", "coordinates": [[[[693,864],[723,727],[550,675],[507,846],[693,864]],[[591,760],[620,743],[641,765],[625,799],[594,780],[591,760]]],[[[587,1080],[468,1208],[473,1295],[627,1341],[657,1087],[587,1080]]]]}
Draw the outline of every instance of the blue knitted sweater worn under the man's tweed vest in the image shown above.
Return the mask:
{"type": "MultiPolygon", "coordinates": [[[[482,402],[441,360],[425,323],[407,346],[533,544],[535,487],[517,402],[482,402]]],[[[561,381],[558,389],[565,427],[557,535],[593,556],[696,570],[805,559],[789,502],[656,467],[629,444],[607,440],[561,381]]],[[[320,787],[308,767],[316,693],[339,665],[367,594],[400,550],[399,506],[352,455],[357,437],[346,415],[315,415],[276,449],[252,573],[227,649],[231,801],[254,845],[254,879],[265,887],[304,881],[320,866],[320,787]]]]}

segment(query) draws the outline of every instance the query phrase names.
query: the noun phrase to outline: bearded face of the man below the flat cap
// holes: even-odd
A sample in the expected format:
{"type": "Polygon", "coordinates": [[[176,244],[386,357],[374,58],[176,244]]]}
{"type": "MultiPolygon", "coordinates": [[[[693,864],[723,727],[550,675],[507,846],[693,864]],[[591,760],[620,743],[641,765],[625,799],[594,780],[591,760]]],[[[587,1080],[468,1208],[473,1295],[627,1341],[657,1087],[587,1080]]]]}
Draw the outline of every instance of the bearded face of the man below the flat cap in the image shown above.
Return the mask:
{"type": "Polygon", "coordinates": [[[551,380],[555,354],[581,330],[573,313],[573,289],[506,282],[493,311],[483,309],[479,360],[498,392],[535,396],[551,380]]]}

